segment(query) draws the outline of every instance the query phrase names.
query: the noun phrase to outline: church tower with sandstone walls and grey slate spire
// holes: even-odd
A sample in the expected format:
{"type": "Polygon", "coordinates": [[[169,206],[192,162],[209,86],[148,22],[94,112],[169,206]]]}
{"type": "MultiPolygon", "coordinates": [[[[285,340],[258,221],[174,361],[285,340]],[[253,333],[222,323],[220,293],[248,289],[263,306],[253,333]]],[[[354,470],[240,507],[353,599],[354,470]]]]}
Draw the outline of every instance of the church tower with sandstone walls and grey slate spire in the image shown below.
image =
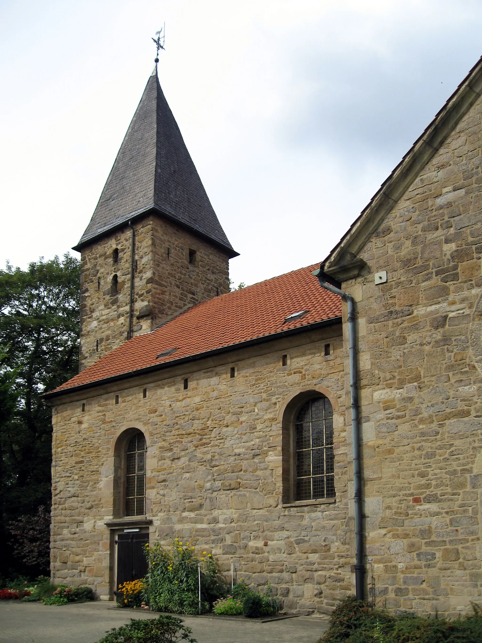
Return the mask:
{"type": "Polygon", "coordinates": [[[229,290],[238,255],[157,71],[149,78],[82,239],[79,368],[195,303],[229,290]]]}

